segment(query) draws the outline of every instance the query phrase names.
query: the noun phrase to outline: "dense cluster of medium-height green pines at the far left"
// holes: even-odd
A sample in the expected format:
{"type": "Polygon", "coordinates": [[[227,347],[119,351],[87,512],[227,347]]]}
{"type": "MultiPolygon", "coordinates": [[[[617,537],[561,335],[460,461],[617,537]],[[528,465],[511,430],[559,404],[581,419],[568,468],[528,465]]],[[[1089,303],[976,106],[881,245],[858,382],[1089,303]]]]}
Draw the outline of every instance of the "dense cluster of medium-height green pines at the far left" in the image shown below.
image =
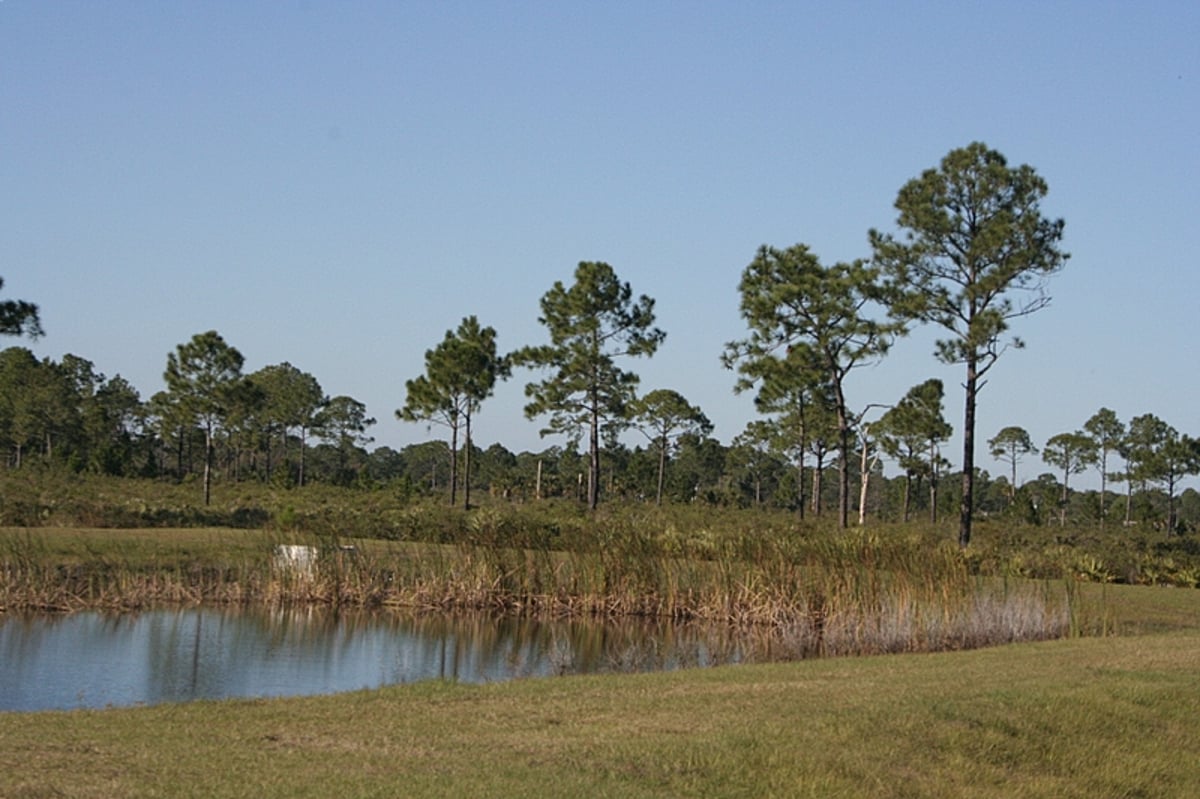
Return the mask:
{"type": "Polygon", "coordinates": [[[200,475],[205,504],[215,471],[233,480],[348,483],[374,423],[366,407],[326,396],[283,362],[241,374],[241,354],[215,331],[168,355],[167,389],[143,401],[120,374],[78,355],[38,360],[0,352],[0,445],[5,464],[30,459],[114,476],[200,475]]]}

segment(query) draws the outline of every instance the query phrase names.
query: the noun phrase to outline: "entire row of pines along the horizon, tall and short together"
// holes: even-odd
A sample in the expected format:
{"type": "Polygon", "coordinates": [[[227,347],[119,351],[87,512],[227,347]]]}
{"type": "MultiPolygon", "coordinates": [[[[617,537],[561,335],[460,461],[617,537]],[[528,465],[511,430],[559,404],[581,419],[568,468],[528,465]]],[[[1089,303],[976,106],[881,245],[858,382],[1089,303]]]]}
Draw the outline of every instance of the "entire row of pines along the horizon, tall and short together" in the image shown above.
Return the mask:
{"type": "MultiPolygon", "coordinates": [[[[966,546],[973,516],[991,512],[991,498],[976,497],[990,485],[974,462],[978,394],[996,360],[1022,346],[1009,325],[1046,307],[1045,280],[1068,259],[1060,248],[1063,221],[1040,211],[1046,192],[1032,167],[1009,167],[1000,152],[972,143],[901,187],[898,229],[870,229],[870,257],[827,265],[805,244],[763,245],[738,286],[748,335],[721,353],[724,366],[737,374],[734,391],[752,391],[761,417],[728,446],[709,437],[712,425],[702,409],[679,392],[638,392],[638,376],[626,361],[653,356],[666,332],[655,326],[655,301],[635,296],[602,262],[580,263],[570,284],[558,281],[541,298],[544,343],[500,353],[494,329],[474,316],[463,318],[426,352],[425,372],[406,383],[396,416],[446,428],[446,473],[439,479],[430,467],[427,476],[430,486],[440,480],[451,503],[469,505],[470,491],[486,487],[510,494],[575,493],[589,507],[608,492],[655,501],[784,503],[798,513],[817,513],[829,507],[832,494],[832,509],[845,527],[852,507],[862,521],[871,497],[890,491],[894,481],[882,477],[882,462],[889,459],[901,471],[895,516],[928,511],[936,519],[954,501],[959,542],[966,546]],[[953,428],[940,382],[918,383],[900,398],[864,400],[846,391],[853,370],[884,358],[918,324],[941,329],[936,359],[965,371],[964,449],[953,489],[946,480],[950,463],[941,450],[953,428]],[[473,431],[497,383],[515,370],[534,374],[526,385],[526,415],[544,420],[544,434],[565,438],[539,455],[536,474],[520,480],[502,476],[497,464],[520,463],[522,456],[505,455],[499,445],[480,451],[473,431]],[[629,431],[641,431],[646,446],[623,444],[629,431]],[[581,445],[582,464],[565,465],[581,445]],[[572,469],[576,485],[563,485],[572,469]],[[781,479],[785,473],[791,477],[781,479]],[[484,475],[494,481],[481,483],[484,475]]],[[[5,332],[40,332],[36,307],[10,301],[4,311],[5,332]]],[[[424,457],[416,457],[418,450],[366,452],[374,420],[361,403],[325,396],[316,378],[289,364],[248,376],[241,373],[242,364],[217,332],[199,334],[168,356],[167,389],[140,403],[132,386],[97,374],[84,359],[37,362],[28,350],[8,350],[0,365],[6,386],[0,434],[10,465],[19,465],[32,447],[44,457],[109,473],[200,473],[205,499],[216,469],[235,479],[294,485],[397,476],[414,487],[425,485],[418,475],[427,464],[415,473],[410,467],[424,457]],[[18,373],[26,377],[8,377],[18,373]],[[17,396],[35,386],[41,398],[17,396]]],[[[1148,421],[1130,422],[1129,434],[1136,429],[1147,440],[1171,438],[1144,429],[1150,427],[1148,421]]],[[[1172,509],[1178,480],[1194,473],[1186,458],[1147,455],[1169,451],[1165,445],[1118,445],[1115,434],[1097,439],[1091,432],[1087,440],[1099,440],[1092,446],[1072,435],[1056,437],[1044,449],[1048,463],[1062,470],[1062,497],[1093,452],[1102,462],[1110,452],[1126,456],[1124,471],[1102,467],[1104,481],[1126,480],[1130,495],[1135,485],[1144,491],[1164,487],[1172,509]],[[1164,462],[1169,465],[1162,467],[1164,462]]],[[[1183,449],[1194,444],[1175,438],[1183,449]]],[[[1015,458],[1033,451],[1032,445],[1024,452],[1004,449],[1004,437],[997,439],[989,445],[1002,459],[1006,452],[1015,458]]],[[[528,465],[526,458],[527,471],[528,465]]],[[[1012,506],[1015,475],[1008,483],[1012,506]]],[[[1100,495],[1105,493],[1102,486],[1100,495]]],[[[1064,500],[1060,504],[1066,507],[1064,500]]],[[[1130,499],[1127,516],[1132,507],[1130,499]]],[[[1169,511],[1169,525],[1176,522],[1169,511]]]]}

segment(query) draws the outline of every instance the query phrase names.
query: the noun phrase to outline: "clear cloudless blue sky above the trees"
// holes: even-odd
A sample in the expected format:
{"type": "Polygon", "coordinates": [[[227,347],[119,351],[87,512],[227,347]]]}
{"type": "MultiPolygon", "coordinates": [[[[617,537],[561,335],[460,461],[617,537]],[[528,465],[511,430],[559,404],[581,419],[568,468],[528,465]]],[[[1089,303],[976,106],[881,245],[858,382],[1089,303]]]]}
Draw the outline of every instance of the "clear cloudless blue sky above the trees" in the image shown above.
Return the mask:
{"type": "MultiPolygon", "coordinates": [[[[398,449],[442,437],[394,411],[448,329],[541,343],[541,295],[604,260],[667,331],[626,367],[728,441],[754,417],[719,355],[755,250],[865,257],[900,186],[973,140],[1045,178],[1072,254],[990,373],[980,443],[1040,446],[1102,405],[1200,435],[1194,1],[0,0],[2,296],[46,328],[0,344],[149,398],[217,330],[247,372],[289,361],[365,402],[398,449]]],[[[959,427],[934,337],[856,372],[851,402],[941,377],[959,427]]],[[[478,443],[560,443],[522,414],[533,377],[478,443]]]]}

